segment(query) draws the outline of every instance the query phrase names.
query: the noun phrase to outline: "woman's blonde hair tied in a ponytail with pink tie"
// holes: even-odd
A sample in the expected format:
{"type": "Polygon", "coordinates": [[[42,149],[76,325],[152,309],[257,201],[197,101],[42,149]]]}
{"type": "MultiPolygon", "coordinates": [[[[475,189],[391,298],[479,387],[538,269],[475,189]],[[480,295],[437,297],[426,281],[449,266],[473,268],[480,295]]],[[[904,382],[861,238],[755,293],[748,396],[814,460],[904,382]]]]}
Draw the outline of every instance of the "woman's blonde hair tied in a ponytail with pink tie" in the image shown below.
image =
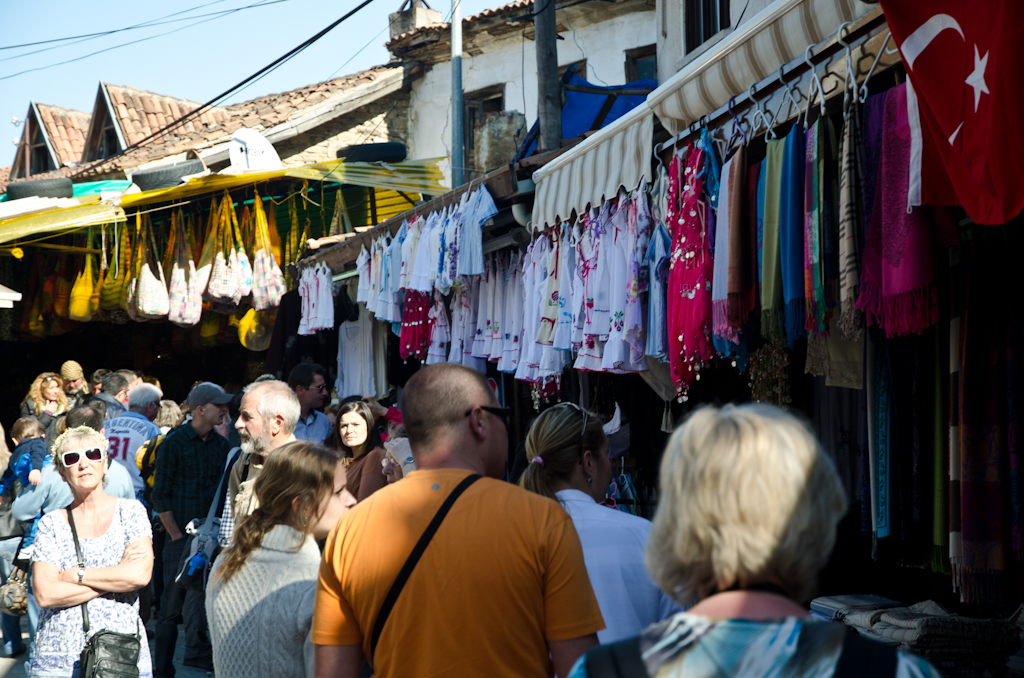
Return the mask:
{"type": "Polygon", "coordinates": [[[519,486],[558,501],[554,491],[556,481],[568,481],[583,462],[584,453],[590,450],[597,454],[604,440],[601,418],[597,415],[586,413],[571,402],[545,410],[526,433],[526,459],[530,461],[519,476],[519,486]]]}

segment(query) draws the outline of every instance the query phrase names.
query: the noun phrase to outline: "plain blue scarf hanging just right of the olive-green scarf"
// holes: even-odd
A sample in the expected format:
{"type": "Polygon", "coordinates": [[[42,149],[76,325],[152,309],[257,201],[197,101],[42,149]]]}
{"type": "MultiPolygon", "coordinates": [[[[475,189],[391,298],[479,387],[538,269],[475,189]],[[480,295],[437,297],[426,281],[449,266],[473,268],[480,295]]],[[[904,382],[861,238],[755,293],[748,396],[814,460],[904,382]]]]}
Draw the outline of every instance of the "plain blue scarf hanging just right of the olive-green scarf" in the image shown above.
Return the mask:
{"type": "Polygon", "coordinates": [[[785,303],[785,340],[792,348],[806,334],[804,328],[804,178],[807,171],[804,132],[794,125],[785,137],[782,159],[782,196],[779,201],[779,258],[785,303]]]}

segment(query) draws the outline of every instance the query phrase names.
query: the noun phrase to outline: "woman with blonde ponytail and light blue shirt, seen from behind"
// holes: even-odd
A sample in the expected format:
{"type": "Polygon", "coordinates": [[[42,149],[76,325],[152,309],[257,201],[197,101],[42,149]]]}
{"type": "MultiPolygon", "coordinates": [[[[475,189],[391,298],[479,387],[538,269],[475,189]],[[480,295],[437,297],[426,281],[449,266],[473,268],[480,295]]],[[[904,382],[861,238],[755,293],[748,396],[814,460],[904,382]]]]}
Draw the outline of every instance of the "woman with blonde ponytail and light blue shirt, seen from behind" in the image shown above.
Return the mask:
{"type": "Polygon", "coordinates": [[[600,418],[571,402],[541,413],[526,433],[526,458],[519,486],[559,502],[580,535],[606,627],[598,631],[598,640],[635,636],[678,611],[644,565],[650,522],[599,503],[612,476],[600,418]]]}

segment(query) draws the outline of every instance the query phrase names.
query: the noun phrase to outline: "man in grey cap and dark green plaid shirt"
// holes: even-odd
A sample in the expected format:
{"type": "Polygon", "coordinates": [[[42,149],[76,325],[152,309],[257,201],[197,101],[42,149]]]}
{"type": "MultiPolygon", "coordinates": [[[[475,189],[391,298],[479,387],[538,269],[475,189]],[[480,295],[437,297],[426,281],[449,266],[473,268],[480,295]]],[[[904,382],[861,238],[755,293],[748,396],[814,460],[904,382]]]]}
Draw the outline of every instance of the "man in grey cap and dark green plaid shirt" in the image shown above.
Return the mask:
{"type": "Polygon", "coordinates": [[[156,678],[173,678],[177,618],[185,625],[184,665],[213,671],[213,649],[206,628],[206,600],[202,591],[185,591],[174,584],[185,546],[184,527],[205,518],[217,493],[220,469],[228,444],[213,427],[223,421],[232,397],[210,382],[193,387],[185,399],[191,421],[167,434],[157,455],[153,506],[167,531],[164,545],[164,595],[157,622],[156,678]]]}

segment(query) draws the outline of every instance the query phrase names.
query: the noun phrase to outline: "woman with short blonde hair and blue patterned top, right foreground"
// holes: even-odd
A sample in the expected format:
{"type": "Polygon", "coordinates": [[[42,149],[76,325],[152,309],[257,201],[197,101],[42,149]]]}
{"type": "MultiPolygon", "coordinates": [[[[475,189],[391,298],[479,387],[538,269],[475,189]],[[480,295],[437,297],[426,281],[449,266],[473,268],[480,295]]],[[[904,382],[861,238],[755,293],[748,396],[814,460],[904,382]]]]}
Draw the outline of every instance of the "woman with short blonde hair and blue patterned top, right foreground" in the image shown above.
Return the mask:
{"type": "Polygon", "coordinates": [[[768,405],[701,408],[669,440],[659,484],[647,568],[692,607],[592,649],[570,678],[938,678],[921,658],[809,616],[847,504],[795,417],[768,405]],[[612,664],[633,670],[607,673],[612,664]]]}

